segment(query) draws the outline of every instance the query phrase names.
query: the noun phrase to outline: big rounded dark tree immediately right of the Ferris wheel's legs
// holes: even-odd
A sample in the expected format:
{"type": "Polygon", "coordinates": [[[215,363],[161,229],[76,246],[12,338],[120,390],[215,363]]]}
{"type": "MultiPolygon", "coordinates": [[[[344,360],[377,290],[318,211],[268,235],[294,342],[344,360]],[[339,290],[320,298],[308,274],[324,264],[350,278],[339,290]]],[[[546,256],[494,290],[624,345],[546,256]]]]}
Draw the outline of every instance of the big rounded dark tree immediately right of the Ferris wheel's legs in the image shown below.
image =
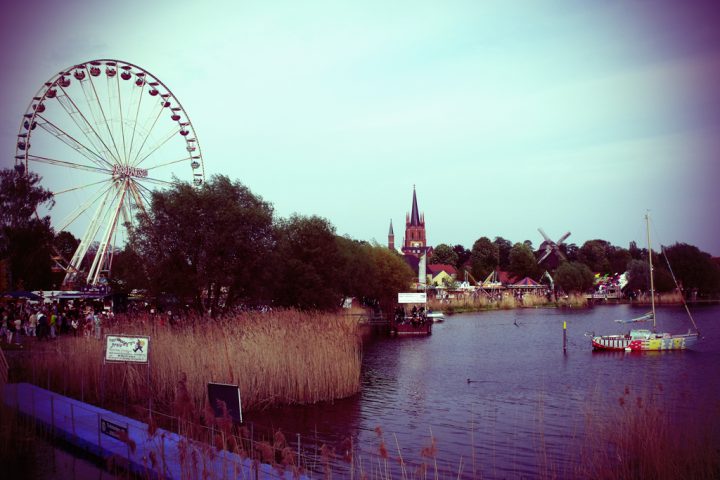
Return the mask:
{"type": "Polygon", "coordinates": [[[263,298],[272,220],[270,204],[216,175],[199,189],[178,183],[154,192],[131,242],[152,293],[192,299],[198,311],[215,315],[263,298]]]}

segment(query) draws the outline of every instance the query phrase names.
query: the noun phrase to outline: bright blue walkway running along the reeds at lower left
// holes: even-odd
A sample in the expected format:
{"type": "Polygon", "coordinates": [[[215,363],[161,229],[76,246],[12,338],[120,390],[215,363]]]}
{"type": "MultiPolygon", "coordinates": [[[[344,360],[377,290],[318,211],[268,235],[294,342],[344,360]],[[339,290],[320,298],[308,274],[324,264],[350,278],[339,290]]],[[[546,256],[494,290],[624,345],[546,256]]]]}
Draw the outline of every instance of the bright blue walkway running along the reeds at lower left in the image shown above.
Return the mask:
{"type": "MultiPolygon", "coordinates": [[[[64,397],[29,383],[5,385],[6,405],[34,418],[54,435],[130,471],[159,479],[291,480],[270,465],[214,448],[145,423],[64,397]],[[121,441],[127,432],[130,441],[121,441]],[[135,448],[131,448],[131,444],[135,448]],[[155,461],[153,462],[154,459],[155,461]]],[[[301,480],[306,480],[301,477],[301,480]]]]}

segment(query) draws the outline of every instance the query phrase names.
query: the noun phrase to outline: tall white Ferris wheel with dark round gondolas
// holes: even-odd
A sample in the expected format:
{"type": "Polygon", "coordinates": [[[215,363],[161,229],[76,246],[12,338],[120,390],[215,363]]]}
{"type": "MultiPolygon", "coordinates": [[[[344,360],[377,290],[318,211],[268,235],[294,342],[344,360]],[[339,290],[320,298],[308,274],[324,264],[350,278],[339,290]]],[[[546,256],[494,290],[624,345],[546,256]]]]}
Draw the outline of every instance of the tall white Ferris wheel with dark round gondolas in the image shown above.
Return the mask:
{"type": "Polygon", "coordinates": [[[154,189],[205,181],[180,101],[147,70],[111,59],[73,65],[40,87],[21,120],[15,164],[54,194],[55,230],[80,238],[71,258],[53,257],[66,288],[107,281],[125,225],[154,189]]]}

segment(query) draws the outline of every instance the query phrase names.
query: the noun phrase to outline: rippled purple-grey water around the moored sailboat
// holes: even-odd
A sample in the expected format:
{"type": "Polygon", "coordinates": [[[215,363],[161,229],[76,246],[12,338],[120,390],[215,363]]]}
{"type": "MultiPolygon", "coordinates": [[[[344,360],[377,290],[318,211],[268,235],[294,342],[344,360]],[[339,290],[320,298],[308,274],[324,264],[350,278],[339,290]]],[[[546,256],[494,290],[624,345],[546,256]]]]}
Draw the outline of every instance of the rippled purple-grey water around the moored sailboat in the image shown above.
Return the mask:
{"type": "MultiPolygon", "coordinates": [[[[426,463],[443,478],[572,478],[583,455],[607,448],[600,431],[626,418],[623,412],[659,411],[686,428],[718,418],[720,306],[693,310],[704,337],[693,351],[592,351],[585,332],[621,333],[626,326],[613,320],[646,310],[602,305],[449,316],[429,337],[368,340],[358,395],[250,412],[246,420],[280,428],[290,440],[300,434],[303,449],[340,449],[351,438],[356,461],[364,457],[368,469],[381,463],[374,459],[379,427],[391,465],[402,457],[409,472],[426,463]]],[[[690,326],[681,307],[661,307],[657,317],[664,331],[690,326]]],[[[720,445],[717,428],[712,435],[720,445]]]]}

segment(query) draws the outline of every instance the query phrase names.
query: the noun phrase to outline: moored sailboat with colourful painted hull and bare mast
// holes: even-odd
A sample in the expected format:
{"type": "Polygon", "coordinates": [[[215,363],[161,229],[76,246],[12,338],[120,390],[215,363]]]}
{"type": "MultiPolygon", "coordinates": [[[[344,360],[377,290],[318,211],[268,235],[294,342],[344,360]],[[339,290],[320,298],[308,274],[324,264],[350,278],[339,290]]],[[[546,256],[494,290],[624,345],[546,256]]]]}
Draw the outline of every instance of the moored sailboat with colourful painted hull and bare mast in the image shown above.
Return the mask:
{"type": "MultiPolygon", "coordinates": [[[[648,264],[650,265],[650,304],[652,309],[650,312],[641,317],[620,322],[634,323],[652,320],[652,329],[633,329],[628,333],[618,335],[593,334],[592,346],[595,350],[619,350],[628,352],[684,350],[686,348],[692,348],[698,341],[699,333],[697,325],[695,324],[695,320],[693,319],[684,298],[683,305],[685,306],[685,311],[693,324],[694,331],[690,329],[687,333],[671,334],[667,332],[658,332],[656,330],[655,284],[653,279],[652,247],[650,246],[650,217],[647,214],[645,215],[645,222],[647,224],[648,264]]],[[[673,275],[673,280],[674,279],[675,276],[673,275]]],[[[675,282],[675,284],[677,285],[677,282],[675,282]]]]}

